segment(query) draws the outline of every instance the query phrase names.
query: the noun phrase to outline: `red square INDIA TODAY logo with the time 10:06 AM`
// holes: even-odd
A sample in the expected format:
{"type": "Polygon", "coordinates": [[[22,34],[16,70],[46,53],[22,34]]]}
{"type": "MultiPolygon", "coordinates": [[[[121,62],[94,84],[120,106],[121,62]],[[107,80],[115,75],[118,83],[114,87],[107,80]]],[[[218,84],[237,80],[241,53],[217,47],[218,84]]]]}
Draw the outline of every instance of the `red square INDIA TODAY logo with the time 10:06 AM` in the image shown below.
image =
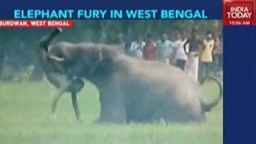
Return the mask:
{"type": "Polygon", "coordinates": [[[224,26],[254,26],[254,0],[225,0],[223,4],[224,26]]]}

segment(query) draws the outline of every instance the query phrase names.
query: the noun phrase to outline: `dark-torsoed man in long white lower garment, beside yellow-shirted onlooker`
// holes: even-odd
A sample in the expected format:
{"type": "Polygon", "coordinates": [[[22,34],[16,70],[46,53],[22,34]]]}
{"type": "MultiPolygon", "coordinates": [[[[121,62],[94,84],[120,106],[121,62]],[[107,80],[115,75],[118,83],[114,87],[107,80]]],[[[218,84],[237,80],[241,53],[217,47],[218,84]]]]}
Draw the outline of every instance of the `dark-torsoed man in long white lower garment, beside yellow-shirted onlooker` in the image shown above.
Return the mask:
{"type": "Polygon", "coordinates": [[[191,38],[188,38],[183,46],[186,51],[186,46],[189,46],[187,55],[187,61],[185,64],[184,71],[189,75],[194,82],[198,82],[198,62],[200,47],[202,46],[202,41],[198,38],[198,30],[191,30],[191,38]]]}

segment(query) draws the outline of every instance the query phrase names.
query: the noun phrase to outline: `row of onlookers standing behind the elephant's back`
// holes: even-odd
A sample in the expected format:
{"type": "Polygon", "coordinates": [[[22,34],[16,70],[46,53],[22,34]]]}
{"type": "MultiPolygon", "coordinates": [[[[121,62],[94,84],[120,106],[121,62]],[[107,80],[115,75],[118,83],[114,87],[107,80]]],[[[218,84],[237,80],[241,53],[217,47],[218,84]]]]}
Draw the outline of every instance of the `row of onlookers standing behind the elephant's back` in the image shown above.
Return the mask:
{"type": "Polygon", "coordinates": [[[126,54],[134,58],[165,62],[184,70],[195,82],[202,82],[210,74],[222,70],[222,35],[207,32],[202,35],[193,29],[190,35],[178,32],[175,38],[162,33],[162,38],[155,40],[152,34],[138,35],[134,42],[126,42],[126,54]]]}

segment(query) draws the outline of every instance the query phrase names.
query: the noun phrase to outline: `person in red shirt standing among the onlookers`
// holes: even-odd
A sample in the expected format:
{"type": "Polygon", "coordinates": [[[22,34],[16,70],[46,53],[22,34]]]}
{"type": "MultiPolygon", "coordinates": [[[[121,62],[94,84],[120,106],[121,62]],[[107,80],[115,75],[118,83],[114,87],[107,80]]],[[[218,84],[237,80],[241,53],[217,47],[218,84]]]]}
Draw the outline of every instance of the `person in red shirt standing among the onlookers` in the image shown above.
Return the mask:
{"type": "Polygon", "coordinates": [[[145,60],[154,61],[156,59],[156,44],[151,34],[148,34],[146,46],[143,49],[143,58],[145,60]]]}

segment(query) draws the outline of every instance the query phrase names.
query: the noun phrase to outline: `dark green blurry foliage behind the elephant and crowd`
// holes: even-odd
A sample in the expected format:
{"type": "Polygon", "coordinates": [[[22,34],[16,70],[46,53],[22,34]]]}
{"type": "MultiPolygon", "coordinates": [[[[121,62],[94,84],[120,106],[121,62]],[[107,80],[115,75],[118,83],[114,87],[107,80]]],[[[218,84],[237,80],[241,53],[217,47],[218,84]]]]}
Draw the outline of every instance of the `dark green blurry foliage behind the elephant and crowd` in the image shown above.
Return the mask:
{"type": "MultiPolygon", "coordinates": [[[[126,41],[128,29],[132,30],[132,38],[136,38],[138,34],[146,36],[151,33],[157,39],[163,31],[171,38],[177,31],[186,31],[189,34],[192,28],[197,28],[202,36],[208,30],[222,34],[222,21],[79,20],[74,21],[74,27],[64,30],[54,41],[118,43],[120,40],[126,41]]],[[[33,64],[36,69],[31,78],[42,78],[38,62],[38,40],[50,31],[51,29],[0,29],[0,50],[5,53],[7,59],[5,66],[11,66],[12,71],[15,71],[33,64]]]]}

